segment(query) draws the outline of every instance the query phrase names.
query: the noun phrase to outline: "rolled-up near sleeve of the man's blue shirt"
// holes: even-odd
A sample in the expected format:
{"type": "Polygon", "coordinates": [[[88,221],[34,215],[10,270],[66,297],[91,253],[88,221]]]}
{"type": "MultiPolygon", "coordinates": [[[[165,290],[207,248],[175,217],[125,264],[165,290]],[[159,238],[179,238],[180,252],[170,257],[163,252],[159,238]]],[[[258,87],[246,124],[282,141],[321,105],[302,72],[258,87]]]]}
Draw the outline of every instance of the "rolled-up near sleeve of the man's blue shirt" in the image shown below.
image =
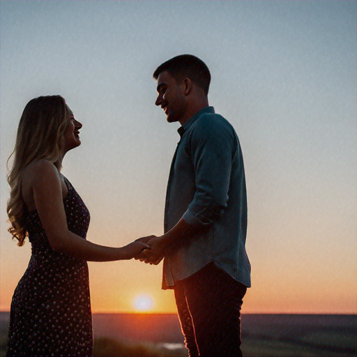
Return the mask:
{"type": "Polygon", "coordinates": [[[215,116],[204,116],[197,124],[187,142],[195,169],[196,192],[183,220],[190,225],[211,225],[227,206],[234,132],[215,116]]]}

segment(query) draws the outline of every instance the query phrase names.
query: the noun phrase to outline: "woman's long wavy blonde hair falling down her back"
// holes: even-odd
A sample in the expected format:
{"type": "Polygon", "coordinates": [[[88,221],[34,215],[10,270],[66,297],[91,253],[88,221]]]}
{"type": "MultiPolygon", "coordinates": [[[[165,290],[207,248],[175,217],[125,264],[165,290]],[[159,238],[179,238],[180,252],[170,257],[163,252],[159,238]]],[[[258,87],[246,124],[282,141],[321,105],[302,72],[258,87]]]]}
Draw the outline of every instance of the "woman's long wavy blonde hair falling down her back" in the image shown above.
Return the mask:
{"type": "MultiPolygon", "coordinates": [[[[42,96],[30,100],[22,113],[15,149],[11,153],[13,165],[8,172],[10,199],[8,199],[8,229],[17,245],[24,245],[27,231],[24,227],[26,205],[21,192],[21,179],[24,168],[30,162],[45,159],[61,169],[60,151],[67,126],[70,109],[61,96],[42,96]]],[[[10,160],[8,158],[8,162],[10,160]]]]}

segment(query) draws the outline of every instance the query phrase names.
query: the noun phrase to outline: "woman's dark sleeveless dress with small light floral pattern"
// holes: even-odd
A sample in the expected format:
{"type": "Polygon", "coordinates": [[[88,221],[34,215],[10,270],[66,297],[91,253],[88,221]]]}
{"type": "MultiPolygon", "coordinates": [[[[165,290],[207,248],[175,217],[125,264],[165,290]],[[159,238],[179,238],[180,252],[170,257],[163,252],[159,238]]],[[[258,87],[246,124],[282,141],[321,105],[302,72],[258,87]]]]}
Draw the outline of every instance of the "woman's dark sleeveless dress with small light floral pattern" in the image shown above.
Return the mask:
{"type": "MultiPolygon", "coordinates": [[[[68,229],[85,239],[89,211],[65,181],[68,229]]],[[[7,356],[92,356],[86,261],[52,250],[37,211],[26,216],[26,230],[31,259],[11,303],[7,356]]]]}

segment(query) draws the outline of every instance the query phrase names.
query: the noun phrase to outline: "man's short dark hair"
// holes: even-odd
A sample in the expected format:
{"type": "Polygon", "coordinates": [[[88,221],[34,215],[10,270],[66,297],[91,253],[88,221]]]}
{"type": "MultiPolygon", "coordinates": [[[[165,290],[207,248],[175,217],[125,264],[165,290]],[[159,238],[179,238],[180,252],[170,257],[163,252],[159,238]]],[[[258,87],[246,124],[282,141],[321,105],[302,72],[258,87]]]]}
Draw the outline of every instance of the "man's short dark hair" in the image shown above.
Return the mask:
{"type": "Polygon", "coordinates": [[[153,77],[158,79],[160,73],[165,70],[169,72],[176,81],[182,80],[185,77],[190,78],[192,82],[204,90],[206,96],[208,95],[211,73],[209,73],[204,61],[196,56],[192,54],[181,54],[169,59],[156,68],[153,77]]]}

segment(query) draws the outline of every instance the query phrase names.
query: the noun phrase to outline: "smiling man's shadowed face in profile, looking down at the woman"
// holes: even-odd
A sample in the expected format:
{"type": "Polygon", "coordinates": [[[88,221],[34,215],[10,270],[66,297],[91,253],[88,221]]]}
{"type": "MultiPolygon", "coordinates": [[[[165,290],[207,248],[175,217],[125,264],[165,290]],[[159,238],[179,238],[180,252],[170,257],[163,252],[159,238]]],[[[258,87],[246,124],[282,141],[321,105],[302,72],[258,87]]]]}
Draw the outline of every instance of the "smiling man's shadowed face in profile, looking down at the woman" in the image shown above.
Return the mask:
{"type": "Polygon", "coordinates": [[[162,107],[169,123],[180,121],[186,110],[183,83],[177,83],[174,77],[165,70],[158,76],[156,89],[158,98],[155,101],[155,105],[162,107]]]}

